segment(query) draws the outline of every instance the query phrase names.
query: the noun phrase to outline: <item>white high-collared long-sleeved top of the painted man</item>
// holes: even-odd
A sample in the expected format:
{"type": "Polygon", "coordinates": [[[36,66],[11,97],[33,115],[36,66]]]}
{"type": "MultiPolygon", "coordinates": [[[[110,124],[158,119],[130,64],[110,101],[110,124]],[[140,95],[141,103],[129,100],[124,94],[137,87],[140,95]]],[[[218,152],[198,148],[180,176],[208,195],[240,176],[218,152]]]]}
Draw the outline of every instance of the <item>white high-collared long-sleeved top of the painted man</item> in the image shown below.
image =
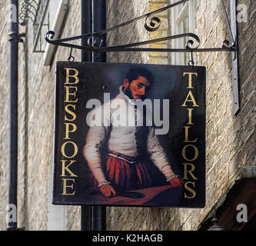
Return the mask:
{"type": "MultiPolygon", "coordinates": [[[[91,126],[86,138],[84,156],[98,183],[108,181],[101,168],[101,148],[115,151],[130,158],[138,158],[145,151],[165,178],[174,177],[165,150],[152,126],[143,126],[143,111],[135,108],[120,87],[116,98],[90,112],[91,126]]],[[[148,123],[148,122],[147,122],[148,123]]],[[[149,124],[150,125],[150,124],[149,124]]]]}

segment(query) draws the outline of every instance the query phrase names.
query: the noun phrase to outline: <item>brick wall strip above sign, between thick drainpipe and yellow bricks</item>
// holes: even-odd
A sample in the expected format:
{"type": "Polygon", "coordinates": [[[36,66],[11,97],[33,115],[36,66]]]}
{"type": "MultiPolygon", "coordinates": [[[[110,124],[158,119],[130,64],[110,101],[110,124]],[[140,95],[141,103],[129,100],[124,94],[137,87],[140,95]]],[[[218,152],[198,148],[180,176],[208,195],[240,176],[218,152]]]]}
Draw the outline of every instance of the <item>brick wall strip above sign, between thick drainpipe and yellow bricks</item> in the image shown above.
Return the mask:
{"type": "MultiPolygon", "coordinates": [[[[135,1],[109,1],[107,5],[107,28],[127,22],[148,12],[148,1],[141,1],[136,5],[135,1]]],[[[125,25],[112,32],[108,32],[107,44],[125,45],[141,42],[148,39],[148,32],[144,27],[145,19],[125,25]],[[145,37],[145,38],[144,38],[145,37]]],[[[148,54],[145,52],[109,52],[107,61],[115,63],[148,63],[148,54]]]]}

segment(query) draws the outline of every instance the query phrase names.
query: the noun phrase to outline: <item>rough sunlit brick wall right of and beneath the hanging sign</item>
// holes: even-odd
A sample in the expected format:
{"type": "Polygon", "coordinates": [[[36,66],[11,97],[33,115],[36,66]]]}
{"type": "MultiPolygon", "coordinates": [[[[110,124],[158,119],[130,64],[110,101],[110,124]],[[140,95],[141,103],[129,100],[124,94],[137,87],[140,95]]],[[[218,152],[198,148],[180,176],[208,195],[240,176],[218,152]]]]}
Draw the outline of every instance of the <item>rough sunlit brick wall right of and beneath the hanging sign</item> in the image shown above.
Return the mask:
{"type": "MultiPolygon", "coordinates": [[[[148,10],[161,8],[162,3],[165,1],[149,1],[148,10]]],[[[238,115],[233,114],[230,53],[208,52],[197,54],[195,58],[196,65],[204,65],[207,68],[206,207],[204,209],[108,208],[109,230],[197,230],[214,204],[231,188],[241,168],[244,165],[255,165],[254,27],[256,22],[252,16],[255,3],[253,1],[238,3],[248,5],[250,16],[248,23],[238,23],[241,64],[241,110],[238,115]]],[[[119,22],[122,22],[123,10],[130,5],[131,2],[127,1],[125,5],[122,3],[119,8],[115,7],[118,14],[115,18],[119,19],[119,22]]],[[[227,1],[226,5],[228,7],[227,1]]],[[[108,8],[111,9],[111,5],[108,5],[108,8]]],[[[196,1],[195,9],[197,23],[195,33],[201,38],[201,47],[221,47],[224,39],[229,38],[221,2],[196,1]]],[[[139,12],[135,14],[140,15],[139,12]]],[[[144,37],[142,33],[141,37],[144,37]]],[[[155,33],[155,37],[161,35],[166,35],[166,32],[155,33]]],[[[111,59],[112,57],[109,57],[109,61],[112,61],[111,59]]],[[[115,57],[113,59],[115,60],[115,57]]],[[[154,54],[148,58],[148,63],[168,64],[168,61],[170,60],[156,61],[154,54]]],[[[129,62],[129,60],[124,58],[118,62],[129,62]]]]}

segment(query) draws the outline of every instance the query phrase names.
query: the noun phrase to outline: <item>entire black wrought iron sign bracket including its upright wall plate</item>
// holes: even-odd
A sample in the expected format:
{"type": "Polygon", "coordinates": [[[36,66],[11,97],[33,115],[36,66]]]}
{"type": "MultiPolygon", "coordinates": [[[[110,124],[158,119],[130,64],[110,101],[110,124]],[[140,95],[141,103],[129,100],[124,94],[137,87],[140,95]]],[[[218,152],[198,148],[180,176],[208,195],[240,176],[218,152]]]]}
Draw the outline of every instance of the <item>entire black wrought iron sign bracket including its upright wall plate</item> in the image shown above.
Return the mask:
{"type": "Polygon", "coordinates": [[[154,12],[149,12],[148,14],[141,15],[137,18],[133,18],[128,22],[115,25],[114,27],[107,28],[99,32],[92,32],[83,35],[78,35],[71,38],[61,38],[55,39],[55,32],[48,31],[45,40],[46,42],[57,45],[64,46],[68,48],[77,48],[85,50],[87,52],[231,52],[232,53],[232,80],[233,80],[233,94],[234,94],[234,114],[239,110],[239,90],[238,90],[238,37],[237,37],[237,21],[236,21],[236,2],[237,0],[230,0],[230,12],[231,12],[231,25],[228,22],[228,13],[224,5],[224,0],[221,0],[221,5],[224,10],[224,17],[228,25],[228,31],[230,34],[231,42],[224,40],[221,47],[217,48],[200,48],[201,41],[198,35],[188,32],[184,34],[171,35],[164,38],[155,38],[143,42],[135,42],[125,45],[115,45],[102,47],[104,42],[104,36],[108,32],[114,31],[118,28],[129,25],[133,22],[138,22],[141,19],[145,19],[145,29],[148,32],[155,32],[161,26],[161,20],[156,15],[161,12],[165,12],[169,8],[173,8],[177,5],[181,5],[189,0],[181,0],[175,2],[171,5],[165,6],[164,8],[159,8],[154,12]],[[75,41],[83,38],[87,40],[87,45],[75,45],[68,42],[75,41]],[[185,48],[145,48],[139,47],[143,45],[148,45],[151,43],[163,42],[167,40],[173,40],[177,38],[189,38],[185,45],[185,48]]]}

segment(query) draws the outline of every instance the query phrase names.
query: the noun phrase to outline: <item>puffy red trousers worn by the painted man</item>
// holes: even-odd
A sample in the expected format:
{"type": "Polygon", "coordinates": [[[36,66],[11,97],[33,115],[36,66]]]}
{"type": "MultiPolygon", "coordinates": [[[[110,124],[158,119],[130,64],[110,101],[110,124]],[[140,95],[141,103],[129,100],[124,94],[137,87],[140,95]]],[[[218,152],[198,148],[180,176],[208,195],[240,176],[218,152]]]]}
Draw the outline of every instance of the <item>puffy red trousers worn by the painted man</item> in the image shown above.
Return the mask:
{"type": "MultiPolygon", "coordinates": [[[[111,182],[115,191],[131,191],[140,188],[151,187],[151,177],[148,172],[147,163],[128,163],[108,155],[106,161],[106,179],[111,182]]],[[[93,177],[94,186],[98,182],[93,177]]]]}

